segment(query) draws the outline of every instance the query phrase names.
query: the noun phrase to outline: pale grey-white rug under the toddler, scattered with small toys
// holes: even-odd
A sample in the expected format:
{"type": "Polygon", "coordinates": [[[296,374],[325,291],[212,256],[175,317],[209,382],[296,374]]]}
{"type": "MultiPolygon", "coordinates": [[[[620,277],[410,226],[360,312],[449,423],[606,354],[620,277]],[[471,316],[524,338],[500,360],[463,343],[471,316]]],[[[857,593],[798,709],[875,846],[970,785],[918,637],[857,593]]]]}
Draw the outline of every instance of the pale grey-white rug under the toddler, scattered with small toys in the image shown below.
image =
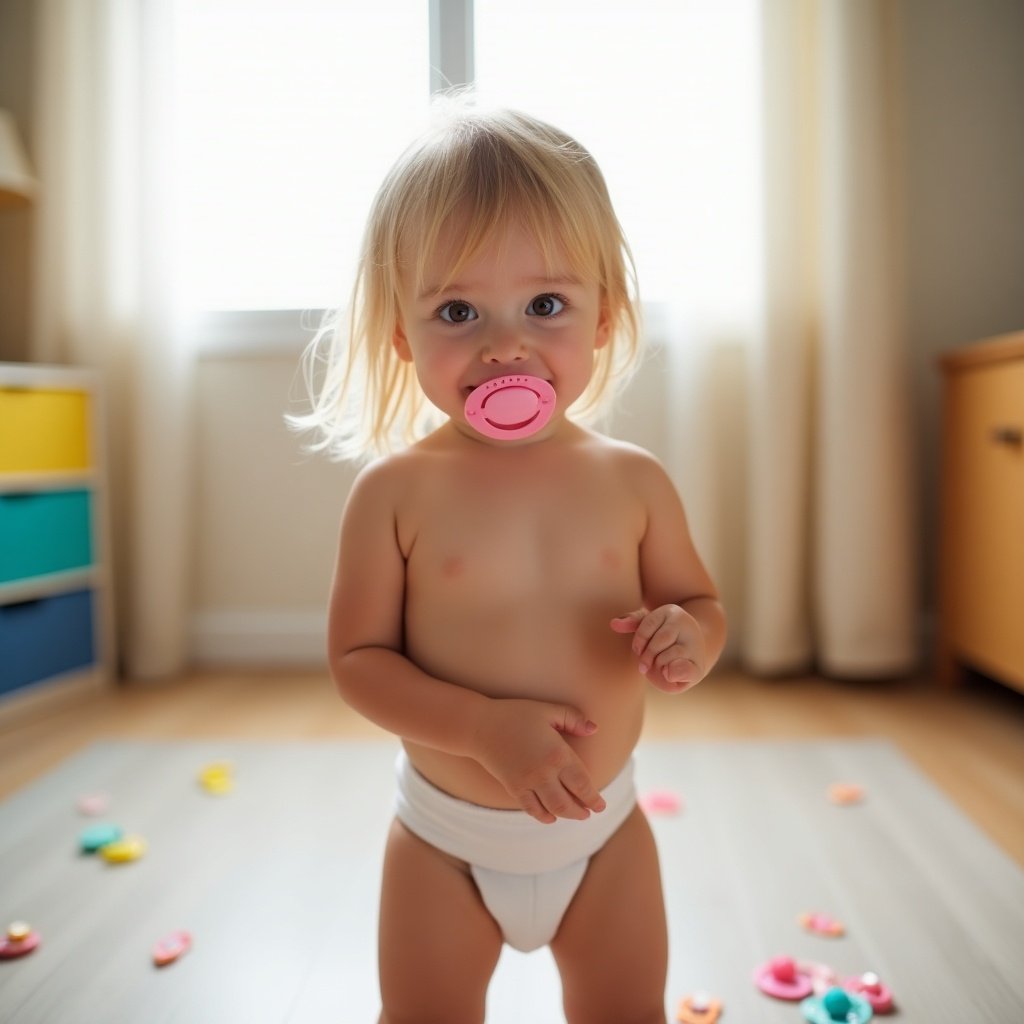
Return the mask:
{"type": "MultiPolygon", "coordinates": [[[[389,743],[105,742],[0,804],[0,925],[29,921],[35,952],[0,961],[12,1024],[372,1024],[377,889],[390,818],[389,743]],[[230,795],[197,784],[233,763],[230,795]],[[148,842],[139,861],[78,853],[104,816],[148,842]],[[188,929],[163,970],[153,944],[188,929]]],[[[877,971],[908,1024],[1024,1021],[1024,872],[893,746],[880,741],[646,743],[671,928],[670,1012],[705,989],[735,1024],[796,1022],[752,983],[779,954],[877,971]],[[828,785],[863,785],[838,807],[828,785]],[[806,933],[833,914],[843,938],[806,933]]],[[[507,950],[488,1024],[561,1024],[546,950],[507,950]]],[[[670,1019],[672,1017],[670,1016],[670,1019]]]]}

